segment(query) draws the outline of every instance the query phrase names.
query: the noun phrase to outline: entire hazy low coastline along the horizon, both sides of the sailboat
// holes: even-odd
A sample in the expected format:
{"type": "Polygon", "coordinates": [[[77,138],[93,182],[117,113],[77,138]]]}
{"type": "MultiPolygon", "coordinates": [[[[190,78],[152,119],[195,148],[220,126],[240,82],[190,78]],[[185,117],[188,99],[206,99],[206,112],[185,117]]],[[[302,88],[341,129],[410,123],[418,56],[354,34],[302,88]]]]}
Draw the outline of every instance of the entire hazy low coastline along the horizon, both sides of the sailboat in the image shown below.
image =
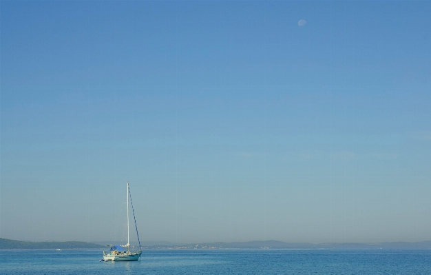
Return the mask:
{"type": "MultiPolygon", "coordinates": [[[[99,242],[98,242],[99,243],[99,242]]],[[[0,238],[0,249],[98,249],[106,245],[80,241],[30,242],[0,238]]],[[[285,243],[282,241],[249,241],[234,243],[189,243],[151,242],[143,249],[431,249],[431,241],[388,243],[285,243]]]]}

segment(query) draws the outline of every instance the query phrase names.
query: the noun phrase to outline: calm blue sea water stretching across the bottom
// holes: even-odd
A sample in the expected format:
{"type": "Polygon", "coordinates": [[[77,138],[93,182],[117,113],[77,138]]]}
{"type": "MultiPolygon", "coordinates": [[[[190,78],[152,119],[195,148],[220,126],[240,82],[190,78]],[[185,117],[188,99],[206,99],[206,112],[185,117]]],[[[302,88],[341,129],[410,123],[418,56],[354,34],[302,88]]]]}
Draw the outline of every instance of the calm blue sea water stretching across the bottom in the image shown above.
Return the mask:
{"type": "Polygon", "coordinates": [[[431,274],[431,250],[145,250],[99,262],[101,250],[0,250],[1,274],[431,274]]]}

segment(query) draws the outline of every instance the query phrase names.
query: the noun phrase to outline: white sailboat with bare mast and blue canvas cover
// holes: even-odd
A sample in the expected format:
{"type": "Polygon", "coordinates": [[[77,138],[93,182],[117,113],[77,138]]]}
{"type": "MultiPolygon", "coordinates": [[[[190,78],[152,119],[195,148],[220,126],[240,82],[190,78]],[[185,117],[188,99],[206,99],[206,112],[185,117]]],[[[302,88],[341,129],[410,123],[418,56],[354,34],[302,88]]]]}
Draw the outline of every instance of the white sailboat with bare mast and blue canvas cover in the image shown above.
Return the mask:
{"type": "Polygon", "coordinates": [[[135,211],[133,209],[132,196],[130,195],[129,182],[127,181],[127,244],[125,245],[112,245],[109,254],[103,252],[103,261],[138,261],[142,249],[140,248],[138,226],[136,225],[135,211]],[[136,235],[138,236],[139,250],[132,252],[130,251],[130,230],[129,230],[129,198],[132,205],[133,218],[135,221],[136,235]]]}

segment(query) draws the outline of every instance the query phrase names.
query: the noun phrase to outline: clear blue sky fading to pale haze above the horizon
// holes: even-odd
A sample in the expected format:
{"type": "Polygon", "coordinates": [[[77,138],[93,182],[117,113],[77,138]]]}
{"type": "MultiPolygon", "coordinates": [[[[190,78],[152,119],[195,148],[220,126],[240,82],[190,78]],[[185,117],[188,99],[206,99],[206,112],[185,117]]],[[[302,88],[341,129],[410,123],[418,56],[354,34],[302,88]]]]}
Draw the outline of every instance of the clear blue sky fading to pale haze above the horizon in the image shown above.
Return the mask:
{"type": "Polygon", "coordinates": [[[0,237],[431,240],[431,1],[0,15],[0,237]]]}

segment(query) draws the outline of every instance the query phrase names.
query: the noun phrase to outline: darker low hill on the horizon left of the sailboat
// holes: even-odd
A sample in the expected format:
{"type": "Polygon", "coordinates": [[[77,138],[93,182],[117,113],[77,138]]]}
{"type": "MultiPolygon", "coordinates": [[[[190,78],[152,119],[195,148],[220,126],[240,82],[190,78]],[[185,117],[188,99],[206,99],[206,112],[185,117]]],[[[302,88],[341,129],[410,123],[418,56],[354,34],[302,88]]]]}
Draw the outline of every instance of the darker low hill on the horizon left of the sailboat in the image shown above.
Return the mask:
{"type": "Polygon", "coordinates": [[[105,248],[103,245],[85,242],[29,242],[0,238],[0,249],[74,249],[74,248],[105,248]]]}

